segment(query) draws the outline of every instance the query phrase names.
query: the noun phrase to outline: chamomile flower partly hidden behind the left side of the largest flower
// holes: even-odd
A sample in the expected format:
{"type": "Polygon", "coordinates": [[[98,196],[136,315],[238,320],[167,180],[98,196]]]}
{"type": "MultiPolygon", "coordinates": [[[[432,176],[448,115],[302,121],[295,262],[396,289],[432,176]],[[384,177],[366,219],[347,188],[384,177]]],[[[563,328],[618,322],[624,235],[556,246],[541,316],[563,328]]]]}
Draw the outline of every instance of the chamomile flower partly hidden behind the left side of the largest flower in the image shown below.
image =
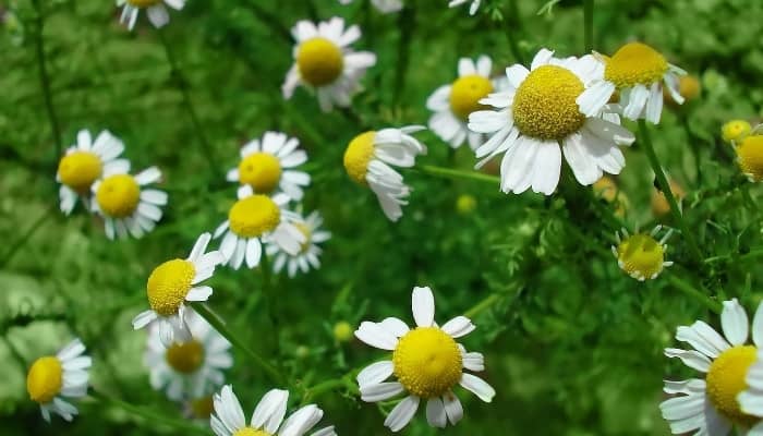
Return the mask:
{"type": "Polygon", "coordinates": [[[472,149],[476,149],[482,141],[482,134],[469,131],[469,116],[480,109],[480,100],[496,89],[496,83],[491,81],[493,61],[481,56],[476,62],[461,58],[458,63],[459,77],[449,85],[437,88],[426,100],[426,108],[435,112],[429,118],[429,129],[443,141],[458,148],[464,141],[472,149]]]}

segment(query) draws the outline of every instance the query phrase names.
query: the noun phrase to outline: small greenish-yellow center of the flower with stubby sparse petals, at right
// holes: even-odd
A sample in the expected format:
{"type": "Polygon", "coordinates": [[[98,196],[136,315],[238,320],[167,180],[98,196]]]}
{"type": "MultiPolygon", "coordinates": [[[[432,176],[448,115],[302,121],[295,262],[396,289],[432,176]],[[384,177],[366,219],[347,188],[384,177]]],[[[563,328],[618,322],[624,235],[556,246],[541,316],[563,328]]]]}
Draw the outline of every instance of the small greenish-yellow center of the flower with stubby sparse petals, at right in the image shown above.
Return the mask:
{"type": "Polygon", "coordinates": [[[633,234],[617,246],[617,259],[629,275],[651,279],[663,270],[665,250],[649,234],[633,234]]]}

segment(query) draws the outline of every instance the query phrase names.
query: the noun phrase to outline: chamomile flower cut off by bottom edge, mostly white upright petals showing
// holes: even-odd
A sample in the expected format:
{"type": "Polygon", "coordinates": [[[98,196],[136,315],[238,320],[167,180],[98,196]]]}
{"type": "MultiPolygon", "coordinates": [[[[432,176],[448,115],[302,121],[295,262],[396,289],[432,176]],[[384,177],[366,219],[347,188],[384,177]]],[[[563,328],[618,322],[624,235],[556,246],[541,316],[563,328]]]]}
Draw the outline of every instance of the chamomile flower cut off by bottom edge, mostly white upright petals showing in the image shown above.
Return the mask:
{"type": "MultiPolygon", "coordinates": [[[[244,411],[230,385],[215,393],[215,414],[209,424],[217,436],[302,436],[310,432],[323,417],[324,411],[315,404],[300,408],[286,417],[289,391],[272,389],[265,393],[254,409],[252,420],[246,425],[244,411]]],[[[334,426],[320,428],[312,436],[336,436],[334,426]]]]}

